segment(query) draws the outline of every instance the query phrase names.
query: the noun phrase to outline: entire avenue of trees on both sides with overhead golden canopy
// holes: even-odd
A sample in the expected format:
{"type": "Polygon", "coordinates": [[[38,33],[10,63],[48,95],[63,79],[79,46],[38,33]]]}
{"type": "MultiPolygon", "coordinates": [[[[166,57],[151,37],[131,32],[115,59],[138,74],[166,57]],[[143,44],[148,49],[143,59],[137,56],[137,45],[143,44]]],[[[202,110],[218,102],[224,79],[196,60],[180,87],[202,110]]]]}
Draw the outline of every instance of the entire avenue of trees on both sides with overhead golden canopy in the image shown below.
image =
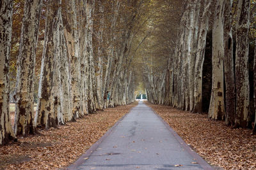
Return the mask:
{"type": "Polygon", "coordinates": [[[1,1],[0,145],[132,103],[138,89],[150,103],[255,132],[255,6],[1,1]]]}

